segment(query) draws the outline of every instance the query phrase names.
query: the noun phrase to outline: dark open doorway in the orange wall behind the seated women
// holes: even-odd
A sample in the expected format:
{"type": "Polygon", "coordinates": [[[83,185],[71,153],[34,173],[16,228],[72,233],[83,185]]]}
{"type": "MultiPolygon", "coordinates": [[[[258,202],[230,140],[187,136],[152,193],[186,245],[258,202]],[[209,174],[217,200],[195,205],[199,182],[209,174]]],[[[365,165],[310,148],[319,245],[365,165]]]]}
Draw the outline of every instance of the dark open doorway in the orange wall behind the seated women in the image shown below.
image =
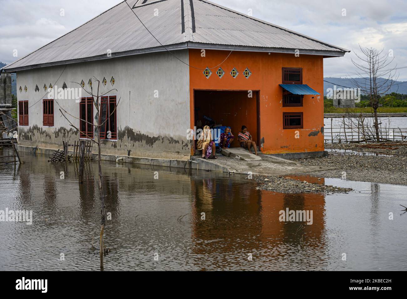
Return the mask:
{"type": "Polygon", "coordinates": [[[224,92],[224,91],[195,91],[195,116],[204,123],[206,115],[216,121],[217,124],[227,125],[232,128],[235,138],[232,147],[239,147],[237,134],[242,125],[252,134],[253,141],[257,143],[257,97],[248,98],[247,92],[224,92]]]}

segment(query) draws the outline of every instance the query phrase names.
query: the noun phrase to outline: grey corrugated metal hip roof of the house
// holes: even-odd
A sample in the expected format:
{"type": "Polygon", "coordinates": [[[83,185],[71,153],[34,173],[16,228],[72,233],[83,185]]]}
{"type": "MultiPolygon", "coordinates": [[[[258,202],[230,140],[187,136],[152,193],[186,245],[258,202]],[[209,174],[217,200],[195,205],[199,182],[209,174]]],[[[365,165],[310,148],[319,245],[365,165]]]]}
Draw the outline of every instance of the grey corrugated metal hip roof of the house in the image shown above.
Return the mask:
{"type": "MultiPolygon", "coordinates": [[[[206,0],[128,0],[128,4],[130,7],[135,4],[133,10],[138,18],[164,46],[196,42],[343,53],[347,51],[206,0]],[[184,16],[181,15],[181,4],[184,5],[184,16]],[[154,15],[154,9],[158,9],[158,15],[154,15]],[[183,21],[185,32],[182,32],[183,21]]],[[[87,57],[103,59],[107,58],[109,50],[112,56],[140,49],[162,51],[163,47],[144,28],[129,6],[126,2],[121,2],[4,69],[62,64],[87,57]]]]}

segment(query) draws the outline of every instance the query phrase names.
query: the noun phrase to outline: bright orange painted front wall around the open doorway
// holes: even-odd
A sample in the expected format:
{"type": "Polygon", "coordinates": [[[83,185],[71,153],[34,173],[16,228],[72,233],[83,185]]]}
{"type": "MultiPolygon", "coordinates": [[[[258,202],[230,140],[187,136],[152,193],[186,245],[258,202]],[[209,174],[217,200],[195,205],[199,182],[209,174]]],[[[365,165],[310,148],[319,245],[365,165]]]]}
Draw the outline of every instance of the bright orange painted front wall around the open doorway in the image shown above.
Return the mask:
{"type": "MultiPolygon", "coordinates": [[[[217,66],[229,51],[206,50],[201,57],[201,50],[189,50],[191,66],[206,68],[217,66]]],[[[234,51],[220,66],[225,75],[220,79],[216,69],[207,79],[202,70],[190,68],[190,118],[194,126],[194,89],[213,90],[260,90],[260,138],[264,137],[262,152],[266,154],[313,152],[324,150],[324,137],[308,136],[310,132],[321,130],[324,125],[323,99],[323,60],[320,55],[301,55],[285,53],[260,53],[234,51]],[[239,71],[234,79],[230,75],[232,68],[239,71]],[[308,84],[321,95],[305,95],[304,107],[282,107],[282,67],[300,67],[303,70],[303,84],[308,84]],[[243,70],[249,68],[251,77],[246,79],[243,70]],[[313,97],[313,98],[312,98],[313,97]],[[282,129],[282,112],[304,112],[303,129],[282,129]],[[295,138],[295,131],[300,138],[295,138]]],[[[236,132],[233,132],[236,134],[236,132]]],[[[252,132],[251,132],[252,133],[252,132]]],[[[252,133],[252,135],[254,135],[252,133]]]]}

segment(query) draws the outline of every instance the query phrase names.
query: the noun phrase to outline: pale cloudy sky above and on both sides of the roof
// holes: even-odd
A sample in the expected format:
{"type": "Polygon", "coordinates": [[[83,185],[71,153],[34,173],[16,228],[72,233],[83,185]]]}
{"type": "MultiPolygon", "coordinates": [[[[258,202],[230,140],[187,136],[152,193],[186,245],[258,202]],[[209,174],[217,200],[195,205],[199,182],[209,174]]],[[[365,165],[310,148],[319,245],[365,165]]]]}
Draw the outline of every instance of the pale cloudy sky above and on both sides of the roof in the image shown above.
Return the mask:
{"type": "MultiPolygon", "coordinates": [[[[0,0],[0,61],[44,46],[122,0],[0,0]],[[65,15],[60,16],[64,9],[65,15]]],[[[407,81],[406,0],[212,0],[231,9],[352,50],[324,59],[324,75],[355,71],[351,57],[359,46],[392,50],[399,80],[407,81]],[[346,15],[343,15],[344,12],[346,15]]]]}

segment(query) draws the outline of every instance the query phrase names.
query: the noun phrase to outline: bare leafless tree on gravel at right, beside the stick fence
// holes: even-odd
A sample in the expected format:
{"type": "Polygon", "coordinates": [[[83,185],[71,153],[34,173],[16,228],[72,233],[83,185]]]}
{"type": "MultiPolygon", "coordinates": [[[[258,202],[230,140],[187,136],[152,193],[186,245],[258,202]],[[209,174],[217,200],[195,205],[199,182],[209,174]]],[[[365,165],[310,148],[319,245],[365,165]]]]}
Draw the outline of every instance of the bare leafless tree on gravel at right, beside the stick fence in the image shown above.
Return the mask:
{"type": "Polygon", "coordinates": [[[359,45],[361,54],[355,53],[358,61],[352,59],[352,63],[359,69],[356,75],[361,78],[350,78],[354,86],[360,88],[361,93],[370,97],[370,106],[374,118],[374,133],[377,142],[380,141],[379,121],[377,118],[377,109],[379,108],[379,99],[381,95],[387,92],[398,79],[396,76],[396,66],[390,67],[394,57],[389,59],[388,53],[376,50],[375,48],[362,48],[359,45]],[[359,80],[358,80],[359,79],[359,80]]]}

